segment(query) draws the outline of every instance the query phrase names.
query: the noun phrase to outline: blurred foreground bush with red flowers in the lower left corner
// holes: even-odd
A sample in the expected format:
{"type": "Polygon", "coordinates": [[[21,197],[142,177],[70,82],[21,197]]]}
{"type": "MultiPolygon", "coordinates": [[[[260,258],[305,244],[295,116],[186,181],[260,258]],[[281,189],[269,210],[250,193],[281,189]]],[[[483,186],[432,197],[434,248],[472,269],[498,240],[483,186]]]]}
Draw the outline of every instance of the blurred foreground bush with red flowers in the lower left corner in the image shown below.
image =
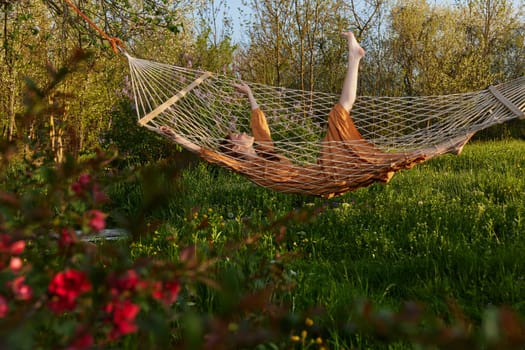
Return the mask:
{"type": "MultiPolygon", "coordinates": [[[[75,165],[78,171],[85,166],[75,165]]],[[[141,313],[168,314],[184,271],[198,265],[186,269],[183,261],[152,259],[139,264],[125,245],[116,249],[86,241],[106,227],[101,205],[107,196],[93,175],[80,173],[70,181],[62,165],[46,171],[55,181],[34,179],[42,191],[1,192],[7,215],[0,223],[0,345],[31,348],[53,339],[50,347],[107,346],[136,333],[141,313]],[[19,332],[29,338],[21,341],[19,332]]]]}

